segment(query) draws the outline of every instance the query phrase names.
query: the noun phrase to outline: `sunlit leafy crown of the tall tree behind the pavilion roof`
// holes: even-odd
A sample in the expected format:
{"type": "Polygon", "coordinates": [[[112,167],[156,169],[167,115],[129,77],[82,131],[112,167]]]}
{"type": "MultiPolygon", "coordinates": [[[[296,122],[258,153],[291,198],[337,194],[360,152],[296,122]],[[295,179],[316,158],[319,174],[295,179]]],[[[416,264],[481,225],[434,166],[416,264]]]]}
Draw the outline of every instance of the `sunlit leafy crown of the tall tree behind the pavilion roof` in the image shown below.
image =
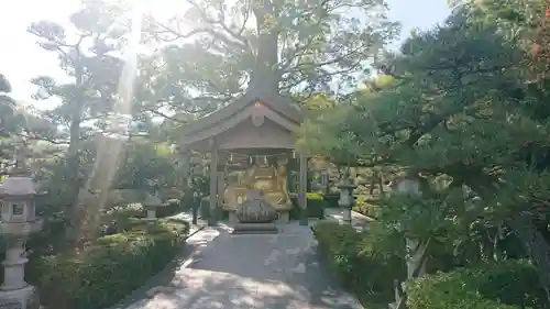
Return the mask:
{"type": "Polygon", "coordinates": [[[169,22],[151,16],[155,22],[145,26],[145,35],[160,45],[170,44],[146,59],[136,103],[146,110],[165,107],[204,114],[257,86],[288,93],[297,92],[296,86],[301,85],[296,97],[308,97],[329,90],[333,76],[354,84],[353,73],[366,70],[361,62],[377,55],[384,43],[397,34],[397,24],[386,20],[382,1],[330,0],[312,5],[268,0],[263,5],[265,10],[254,10],[244,2],[222,7],[201,2],[175,13],[169,22]],[[344,12],[350,9],[362,19],[348,16],[344,12]],[[219,15],[226,16],[221,25],[219,15]],[[258,21],[257,25],[244,25],[249,16],[258,21]],[[180,31],[182,24],[206,27],[187,35],[180,31]],[[206,30],[210,26],[221,30],[206,30]],[[187,38],[177,42],[182,37],[187,38]],[[216,44],[202,44],[204,40],[216,44]],[[279,56],[273,51],[279,51],[279,56]],[[185,60],[182,55],[187,55],[185,60]],[[158,58],[168,65],[160,67],[158,58]],[[242,85],[244,76],[250,76],[248,85],[242,85]]]}

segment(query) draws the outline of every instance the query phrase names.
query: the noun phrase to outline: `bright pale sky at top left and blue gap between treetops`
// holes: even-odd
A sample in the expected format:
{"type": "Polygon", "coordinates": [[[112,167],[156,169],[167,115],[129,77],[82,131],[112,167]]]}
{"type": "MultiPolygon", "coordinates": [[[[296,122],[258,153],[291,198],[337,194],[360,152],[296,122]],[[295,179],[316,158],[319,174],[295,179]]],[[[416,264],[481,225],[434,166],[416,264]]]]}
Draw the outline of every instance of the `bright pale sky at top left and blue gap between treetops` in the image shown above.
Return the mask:
{"type": "MultiPolygon", "coordinates": [[[[389,18],[403,24],[402,37],[406,37],[414,27],[429,29],[443,21],[450,13],[447,0],[386,0],[389,18]]],[[[12,97],[23,102],[32,102],[31,95],[35,88],[30,79],[44,75],[62,75],[55,56],[41,49],[34,37],[26,32],[35,21],[65,21],[74,10],[76,0],[16,0],[0,10],[0,73],[10,80],[12,97]]],[[[166,7],[165,7],[166,8],[166,7]]],[[[170,8],[166,9],[170,12],[170,8]]]]}

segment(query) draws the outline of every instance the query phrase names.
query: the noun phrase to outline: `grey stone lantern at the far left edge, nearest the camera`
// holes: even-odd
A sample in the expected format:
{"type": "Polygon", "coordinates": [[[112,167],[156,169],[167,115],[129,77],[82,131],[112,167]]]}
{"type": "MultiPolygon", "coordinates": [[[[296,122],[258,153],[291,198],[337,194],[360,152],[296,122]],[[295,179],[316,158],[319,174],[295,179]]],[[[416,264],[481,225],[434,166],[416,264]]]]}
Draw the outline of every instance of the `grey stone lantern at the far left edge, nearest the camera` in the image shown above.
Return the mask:
{"type": "Polygon", "coordinates": [[[38,195],[34,180],[24,176],[8,177],[0,185],[0,233],[7,243],[0,307],[34,309],[38,307],[35,287],[24,280],[25,241],[42,229],[43,220],[35,216],[34,198],[38,195]]]}

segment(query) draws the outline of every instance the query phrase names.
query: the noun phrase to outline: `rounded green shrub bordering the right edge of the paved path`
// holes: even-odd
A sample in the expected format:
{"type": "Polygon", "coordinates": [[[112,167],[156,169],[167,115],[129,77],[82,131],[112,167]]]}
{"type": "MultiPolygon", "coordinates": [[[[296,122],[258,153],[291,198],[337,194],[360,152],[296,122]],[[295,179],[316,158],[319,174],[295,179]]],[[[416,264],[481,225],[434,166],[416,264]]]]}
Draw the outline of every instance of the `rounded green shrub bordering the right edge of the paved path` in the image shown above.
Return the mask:
{"type": "Polygon", "coordinates": [[[314,228],[318,251],[342,285],[364,298],[365,294],[388,296],[394,279],[406,274],[398,255],[376,251],[375,234],[358,232],[352,225],[319,222],[314,228]]]}

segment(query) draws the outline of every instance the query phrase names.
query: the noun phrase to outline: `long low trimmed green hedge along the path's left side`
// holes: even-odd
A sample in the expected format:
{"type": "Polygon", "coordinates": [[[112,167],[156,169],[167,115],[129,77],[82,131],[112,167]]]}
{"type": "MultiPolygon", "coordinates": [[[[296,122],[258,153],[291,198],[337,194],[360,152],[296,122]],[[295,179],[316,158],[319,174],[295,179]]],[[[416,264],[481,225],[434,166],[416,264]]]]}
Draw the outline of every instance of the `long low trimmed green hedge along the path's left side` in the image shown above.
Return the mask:
{"type": "Polygon", "coordinates": [[[98,239],[72,255],[31,260],[28,278],[47,308],[97,309],[112,306],[162,271],[180,249],[189,231],[174,219],[143,223],[98,239]]]}

